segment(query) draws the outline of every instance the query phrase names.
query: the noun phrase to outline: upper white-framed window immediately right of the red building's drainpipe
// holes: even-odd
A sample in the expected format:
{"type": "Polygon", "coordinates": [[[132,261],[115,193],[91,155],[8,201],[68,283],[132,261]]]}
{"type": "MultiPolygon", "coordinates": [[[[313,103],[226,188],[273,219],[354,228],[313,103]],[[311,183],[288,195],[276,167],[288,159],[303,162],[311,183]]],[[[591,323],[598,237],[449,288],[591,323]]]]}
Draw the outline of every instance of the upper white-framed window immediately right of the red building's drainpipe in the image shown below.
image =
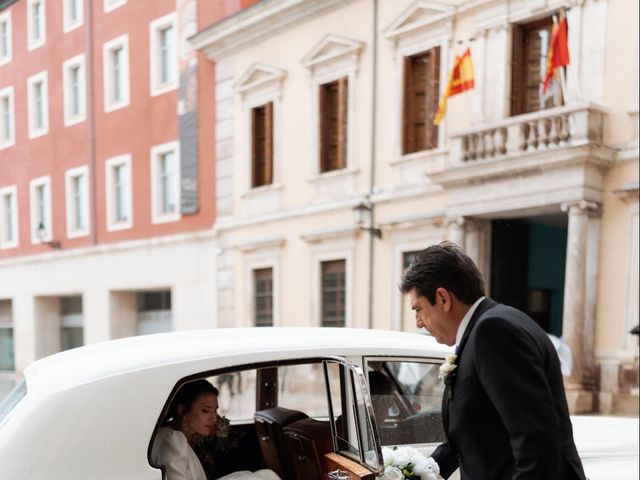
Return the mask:
{"type": "Polygon", "coordinates": [[[111,112],[129,105],[129,36],[104,44],[104,110],[111,112]]]}

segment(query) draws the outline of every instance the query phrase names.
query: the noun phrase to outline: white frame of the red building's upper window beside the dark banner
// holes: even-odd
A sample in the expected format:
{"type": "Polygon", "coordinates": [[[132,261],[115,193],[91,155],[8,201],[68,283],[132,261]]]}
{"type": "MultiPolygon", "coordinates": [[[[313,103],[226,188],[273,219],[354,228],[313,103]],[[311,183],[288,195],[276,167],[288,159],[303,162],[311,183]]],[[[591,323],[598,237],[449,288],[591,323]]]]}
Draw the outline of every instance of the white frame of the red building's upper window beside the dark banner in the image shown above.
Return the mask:
{"type": "Polygon", "coordinates": [[[162,95],[178,88],[178,20],[176,12],[157,18],[149,23],[149,78],[151,96],[162,95]],[[173,29],[173,52],[169,60],[172,78],[163,82],[161,79],[162,55],[160,52],[160,34],[166,28],[173,29]]]}

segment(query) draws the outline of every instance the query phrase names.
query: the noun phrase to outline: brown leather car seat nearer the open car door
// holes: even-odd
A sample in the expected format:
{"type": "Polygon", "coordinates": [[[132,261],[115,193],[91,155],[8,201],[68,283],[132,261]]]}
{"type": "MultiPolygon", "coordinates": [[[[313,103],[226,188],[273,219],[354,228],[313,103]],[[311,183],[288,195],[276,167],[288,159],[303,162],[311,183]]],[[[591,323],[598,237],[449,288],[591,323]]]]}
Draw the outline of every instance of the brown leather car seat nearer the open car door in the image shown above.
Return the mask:
{"type": "Polygon", "coordinates": [[[322,480],[324,455],[333,451],[328,423],[305,418],[283,429],[296,480],[322,480]]]}

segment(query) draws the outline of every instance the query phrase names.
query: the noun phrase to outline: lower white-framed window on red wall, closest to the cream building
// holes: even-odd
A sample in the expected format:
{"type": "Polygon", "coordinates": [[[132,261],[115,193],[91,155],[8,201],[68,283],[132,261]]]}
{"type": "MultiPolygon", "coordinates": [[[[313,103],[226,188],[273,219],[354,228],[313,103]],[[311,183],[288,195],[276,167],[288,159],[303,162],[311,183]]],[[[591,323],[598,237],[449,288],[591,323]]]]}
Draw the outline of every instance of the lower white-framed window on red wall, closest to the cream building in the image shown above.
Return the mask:
{"type": "Polygon", "coordinates": [[[180,158],[178,142],[151,149],[151,202],[153,223],[180,218],[180,158]]]}

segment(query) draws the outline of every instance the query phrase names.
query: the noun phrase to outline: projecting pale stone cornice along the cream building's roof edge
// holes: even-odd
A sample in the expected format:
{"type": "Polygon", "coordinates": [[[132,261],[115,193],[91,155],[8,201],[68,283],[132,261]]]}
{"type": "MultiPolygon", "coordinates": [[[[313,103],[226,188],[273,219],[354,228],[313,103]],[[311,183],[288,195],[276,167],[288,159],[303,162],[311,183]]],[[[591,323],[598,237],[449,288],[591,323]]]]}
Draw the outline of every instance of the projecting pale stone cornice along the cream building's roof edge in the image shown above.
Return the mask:
{"type": "Polygon", "coordinates": [[[192,36],[196,50],[218,61],[315,15],[354,0],[263,0],[192,36]]]}

